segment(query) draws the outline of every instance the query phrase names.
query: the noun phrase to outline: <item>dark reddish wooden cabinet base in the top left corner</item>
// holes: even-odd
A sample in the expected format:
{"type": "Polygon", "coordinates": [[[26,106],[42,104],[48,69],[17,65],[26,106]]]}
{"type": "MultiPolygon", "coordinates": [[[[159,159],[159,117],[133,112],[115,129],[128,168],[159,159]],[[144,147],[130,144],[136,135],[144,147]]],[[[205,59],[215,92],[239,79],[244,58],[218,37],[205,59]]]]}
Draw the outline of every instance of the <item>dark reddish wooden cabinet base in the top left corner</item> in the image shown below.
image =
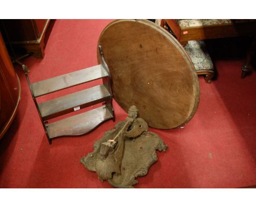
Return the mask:
{"type": "Polygon", "coordinates": [[[44,57],[44,36],[50,20],[2,20],[5,42],[14,49],[25,48],[36,58],[44,57]]]}

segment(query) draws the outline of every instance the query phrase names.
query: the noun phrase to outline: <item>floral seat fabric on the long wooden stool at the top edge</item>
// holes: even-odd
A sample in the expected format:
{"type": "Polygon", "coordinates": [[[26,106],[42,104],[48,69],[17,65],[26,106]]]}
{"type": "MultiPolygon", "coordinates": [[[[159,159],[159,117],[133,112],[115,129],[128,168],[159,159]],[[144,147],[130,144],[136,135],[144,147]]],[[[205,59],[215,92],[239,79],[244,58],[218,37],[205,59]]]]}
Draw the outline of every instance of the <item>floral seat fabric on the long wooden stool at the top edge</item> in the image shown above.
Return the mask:
{"type": "Polygon", "coordinates": [[[202,26],[213,26],[213,25],[230,25],[232,24],[231,20],[176,20],[178,25],[183,29],[183,28],[188,28],[188,27],[202,27],[202,26]]]}

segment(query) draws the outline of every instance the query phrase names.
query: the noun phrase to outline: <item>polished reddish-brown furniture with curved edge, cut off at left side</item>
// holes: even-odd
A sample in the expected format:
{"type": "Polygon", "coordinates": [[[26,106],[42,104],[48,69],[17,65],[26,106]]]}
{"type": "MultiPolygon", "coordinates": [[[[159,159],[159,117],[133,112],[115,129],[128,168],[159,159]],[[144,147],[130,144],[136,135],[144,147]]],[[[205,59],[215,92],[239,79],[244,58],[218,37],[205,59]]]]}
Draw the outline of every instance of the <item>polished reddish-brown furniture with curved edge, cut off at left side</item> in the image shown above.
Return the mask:
{"type": "Polygon", "coordinates": [[[20,81],[0,33],[0,139],[13,121],[20,100],[20,81]]]}

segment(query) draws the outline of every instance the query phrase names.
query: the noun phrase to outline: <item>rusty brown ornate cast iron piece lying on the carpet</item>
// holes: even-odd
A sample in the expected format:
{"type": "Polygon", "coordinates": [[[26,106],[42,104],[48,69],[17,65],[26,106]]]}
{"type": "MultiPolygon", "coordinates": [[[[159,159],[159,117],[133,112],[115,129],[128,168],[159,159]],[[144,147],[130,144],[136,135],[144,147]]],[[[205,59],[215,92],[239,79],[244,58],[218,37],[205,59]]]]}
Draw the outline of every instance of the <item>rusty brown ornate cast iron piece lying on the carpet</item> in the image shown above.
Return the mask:
{"type": "Polygon", "coordinates": [[[138,109],[131,106],[125,121],[119,121],[113,130],[104,133],[94,144],[94,152],[80,162],[98,174],[98,179],[119,188],[132,188],[136,178],[148,173],[158,160],[155,150],[165,151],[167,145],[160,137],[148,131],[148,124],[137,118],[138,109]]]}

